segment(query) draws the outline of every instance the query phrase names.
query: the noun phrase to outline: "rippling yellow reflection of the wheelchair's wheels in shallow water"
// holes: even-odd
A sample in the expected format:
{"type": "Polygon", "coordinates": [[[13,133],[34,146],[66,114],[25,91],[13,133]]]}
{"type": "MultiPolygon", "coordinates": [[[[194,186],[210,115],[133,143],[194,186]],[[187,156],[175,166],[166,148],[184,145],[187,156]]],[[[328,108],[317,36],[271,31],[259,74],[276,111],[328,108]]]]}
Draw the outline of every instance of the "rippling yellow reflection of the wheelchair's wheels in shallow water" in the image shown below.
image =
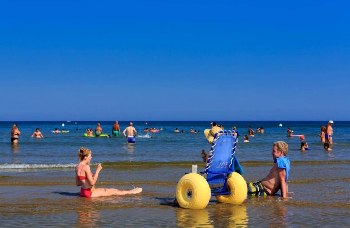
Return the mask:
{"type": "Polygon", "coordinates": [[[202,210],[178,208],[176,219],[182,227],[247,227],[248,214],[244,205],[218,204],[202,210]]]}

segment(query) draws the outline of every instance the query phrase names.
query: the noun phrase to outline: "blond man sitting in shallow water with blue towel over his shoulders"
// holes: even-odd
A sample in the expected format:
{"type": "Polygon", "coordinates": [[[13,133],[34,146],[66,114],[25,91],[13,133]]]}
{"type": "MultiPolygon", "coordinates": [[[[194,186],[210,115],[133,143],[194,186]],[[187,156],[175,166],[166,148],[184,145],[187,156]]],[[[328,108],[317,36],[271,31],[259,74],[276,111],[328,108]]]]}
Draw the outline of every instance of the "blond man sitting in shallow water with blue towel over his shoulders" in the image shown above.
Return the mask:
{"type": "Polygon", "coordinates": [[[288,197],[287,180],[291,165],[289,158],[286,157],[287,151],[287,143],[283,141],[273,143],[271,154],[275,164],[264,179],[256,183],[247,183],[249,196],[275,195],[278,190],[281,190],[281,196],[288,197]]]}

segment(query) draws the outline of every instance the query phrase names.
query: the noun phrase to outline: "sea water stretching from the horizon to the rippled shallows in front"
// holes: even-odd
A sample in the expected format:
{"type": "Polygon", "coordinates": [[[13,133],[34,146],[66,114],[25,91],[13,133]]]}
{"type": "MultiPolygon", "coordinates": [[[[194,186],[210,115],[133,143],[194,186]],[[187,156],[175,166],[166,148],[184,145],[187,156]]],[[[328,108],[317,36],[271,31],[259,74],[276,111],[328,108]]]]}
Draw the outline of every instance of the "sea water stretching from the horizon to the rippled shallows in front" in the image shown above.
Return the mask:
{"type": "MultiPolygon", "coordinates": [[[[236,150],[246,181],[265,177],[273,165],[272,143],[289,144],[291,160],[290,197],[249,197],[242,205],[217,203],[206,209],[174,207],[176,182],[192,164],[204,168],[202,148],[209,149],[203,130],[207,122],[148,122],[147,127],[163,127],[159,133],[143,133],[144,122],[134,122],[139,131],[136,145],[125,138],[87,138],[86,127],[97,122],[19,122],[22,132],[17,147],[11,146],[12,123],[0,122],[0,225],[11,226],[118,226],[118,227],[247,227],[247,226],[348,226],[350,223],[350,122],[335,122],[332,151],[325,151],[317,134],[327,122],[222,122],[237,126],[241,133],[236,150]],[[54,128],[69,130],[54,134],[54,128]],[[283,127],[279,127],[279,123],[283,127]],[[249,143],[242,143],[247,126],[263,126],[249,143]],[[286,127],[304,134],[312,148],[302,152],[300,139],[287,138],[286,127]],[[39,127],[45,138],[30,138],[39,127]],[[173,133],[177,127],[185,133],[173,133]],[[199,134],[189,129],[200,130],[199,134]],[[76,130],[78,128],[78,130],[76,130]],[[130,189],[142,187],[138,195],[78,197],[74,166],[80,146],[92,149],[94,171],[103,170],[97,187],[130,189]]],[[[109,133],[113,122],[102,122],[109,133]]],[[[124,129],[127,123],[121,122],[124,129]]]]}

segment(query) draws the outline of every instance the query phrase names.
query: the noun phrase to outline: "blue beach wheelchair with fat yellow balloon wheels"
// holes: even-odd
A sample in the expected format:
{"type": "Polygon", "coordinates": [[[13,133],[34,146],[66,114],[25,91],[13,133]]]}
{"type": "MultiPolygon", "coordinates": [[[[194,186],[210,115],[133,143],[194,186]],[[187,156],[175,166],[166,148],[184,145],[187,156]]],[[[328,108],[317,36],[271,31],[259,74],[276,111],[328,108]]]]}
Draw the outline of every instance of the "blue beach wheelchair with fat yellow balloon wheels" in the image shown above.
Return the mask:
{"type": "Polygon", "coordinates": [[[247,197],[247,185],[235,155],[238,132],[218,131],[203,172],[185,174],[176,187],[176,201],[182,208],[203,209],[211,196],[221,203],[241,204],[247,197]]]}

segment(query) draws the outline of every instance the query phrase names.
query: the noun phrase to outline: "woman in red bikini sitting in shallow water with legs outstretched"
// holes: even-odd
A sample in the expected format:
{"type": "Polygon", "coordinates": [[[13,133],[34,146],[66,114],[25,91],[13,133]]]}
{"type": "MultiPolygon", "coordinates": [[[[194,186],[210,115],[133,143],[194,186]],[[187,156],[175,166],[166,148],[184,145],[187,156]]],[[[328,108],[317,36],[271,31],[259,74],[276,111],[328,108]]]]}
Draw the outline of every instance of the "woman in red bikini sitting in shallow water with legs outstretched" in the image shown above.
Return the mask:
{"type": "Polygon", "coordinates": [[[76,185],[82,186],[80,189],[81,197],[99,197],[111,195],[136,194],[142,191],[142,188],[136,187],[132,190],[118,190],[114,188],[95,188],[98,174],[102,170],[101,164],[97,165],[95,175],[90,170],[91,150],[81,147],[78,150],[79,165],[76,166],[76,185]]]}

